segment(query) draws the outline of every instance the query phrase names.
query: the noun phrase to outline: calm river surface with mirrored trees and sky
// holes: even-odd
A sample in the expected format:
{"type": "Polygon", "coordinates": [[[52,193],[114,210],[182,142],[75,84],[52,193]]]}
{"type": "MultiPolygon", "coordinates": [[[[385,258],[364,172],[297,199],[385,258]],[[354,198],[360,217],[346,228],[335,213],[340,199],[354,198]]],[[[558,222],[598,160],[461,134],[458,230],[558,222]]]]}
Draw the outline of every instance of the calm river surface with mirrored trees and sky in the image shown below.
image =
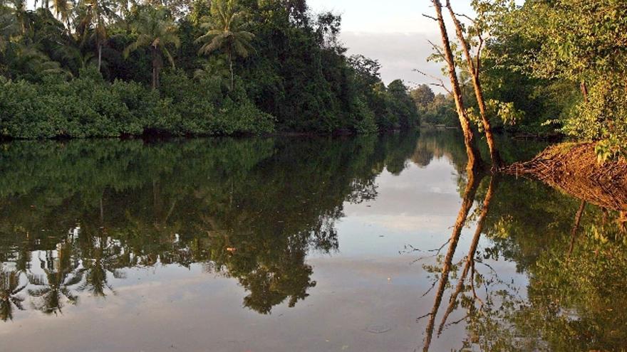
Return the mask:
{"type": "Polygon", "coordinates": [[[458,134],[2,144],[0,351],[626,346],[618,214],[458,134]]]}

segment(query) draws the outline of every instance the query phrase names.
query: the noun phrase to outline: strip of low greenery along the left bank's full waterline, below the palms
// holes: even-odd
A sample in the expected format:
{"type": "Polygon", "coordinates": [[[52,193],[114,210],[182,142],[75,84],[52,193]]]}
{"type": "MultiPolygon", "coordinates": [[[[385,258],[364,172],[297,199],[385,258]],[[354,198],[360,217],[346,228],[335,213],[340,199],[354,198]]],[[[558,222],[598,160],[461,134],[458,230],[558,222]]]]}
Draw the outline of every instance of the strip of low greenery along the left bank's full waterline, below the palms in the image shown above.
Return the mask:
{"type": "Polygon", "coordinates": [[[0,137],[368,134],[410,129],[420,120],[406,89],[386,100],[385,113],[368,110],[364,102],[359,109],[338,105],[333,114],[311,106],[306,116],[294,112],[286,118],[266,106],[276,97],[253,98],[243,85],[229,90],[220,82],[190,78],[180,71],[164,73],[160,82],[160,90],[152,90],[133,81],[108,82],[94,70],[83,70],[71,80],[47,77],[41,82],[0,76],[0,137]],[[407,109],[396,111],[392,105],[407,109]]]}

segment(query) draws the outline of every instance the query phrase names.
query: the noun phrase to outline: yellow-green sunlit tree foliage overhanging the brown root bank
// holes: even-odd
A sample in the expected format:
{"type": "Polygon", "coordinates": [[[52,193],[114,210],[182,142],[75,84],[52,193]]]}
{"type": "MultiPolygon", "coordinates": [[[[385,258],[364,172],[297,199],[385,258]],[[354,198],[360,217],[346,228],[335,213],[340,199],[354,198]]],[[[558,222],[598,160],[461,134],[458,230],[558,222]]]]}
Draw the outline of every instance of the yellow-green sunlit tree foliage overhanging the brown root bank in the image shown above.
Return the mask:
{"type": "MultiPolygon", "coordinates": [[[[601,160],[627,151],[627,6],[616,0],[527,1],[497,11],[497,43],[504,58],[517,55],[533,78],[579,87],[579,100],[564,107],[562,132],[599,141],[601,160]],[[516,43],[527,43],[516,50],[516,43]]],[[[518,66],[518,67],[516,67],[518,66]]],[[[564,100],[564,95],[554,97],[564,100]]]]}

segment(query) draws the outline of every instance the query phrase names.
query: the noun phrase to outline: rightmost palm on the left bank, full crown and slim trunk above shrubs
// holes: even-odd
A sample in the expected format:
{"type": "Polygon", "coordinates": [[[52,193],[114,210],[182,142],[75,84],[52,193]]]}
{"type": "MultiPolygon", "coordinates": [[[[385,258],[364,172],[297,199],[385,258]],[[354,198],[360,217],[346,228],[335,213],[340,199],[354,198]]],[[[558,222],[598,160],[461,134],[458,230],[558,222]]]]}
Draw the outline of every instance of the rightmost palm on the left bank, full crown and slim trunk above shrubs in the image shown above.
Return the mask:
{"type": "Polygon", "coordinates": [[[202,43],[198,50],[199,55],[208,55],[215,50],[222,49],[229,57],[231,71],[231,89],[233,89],[233,54],[247,58],[254,51],[251,44],[254,34],[243,31],[244,11],[237,11],[234,0],[214,0],[211,4],[211,16],[204,18],[202,28],[207,33],[196,39],[202,43]]]}

